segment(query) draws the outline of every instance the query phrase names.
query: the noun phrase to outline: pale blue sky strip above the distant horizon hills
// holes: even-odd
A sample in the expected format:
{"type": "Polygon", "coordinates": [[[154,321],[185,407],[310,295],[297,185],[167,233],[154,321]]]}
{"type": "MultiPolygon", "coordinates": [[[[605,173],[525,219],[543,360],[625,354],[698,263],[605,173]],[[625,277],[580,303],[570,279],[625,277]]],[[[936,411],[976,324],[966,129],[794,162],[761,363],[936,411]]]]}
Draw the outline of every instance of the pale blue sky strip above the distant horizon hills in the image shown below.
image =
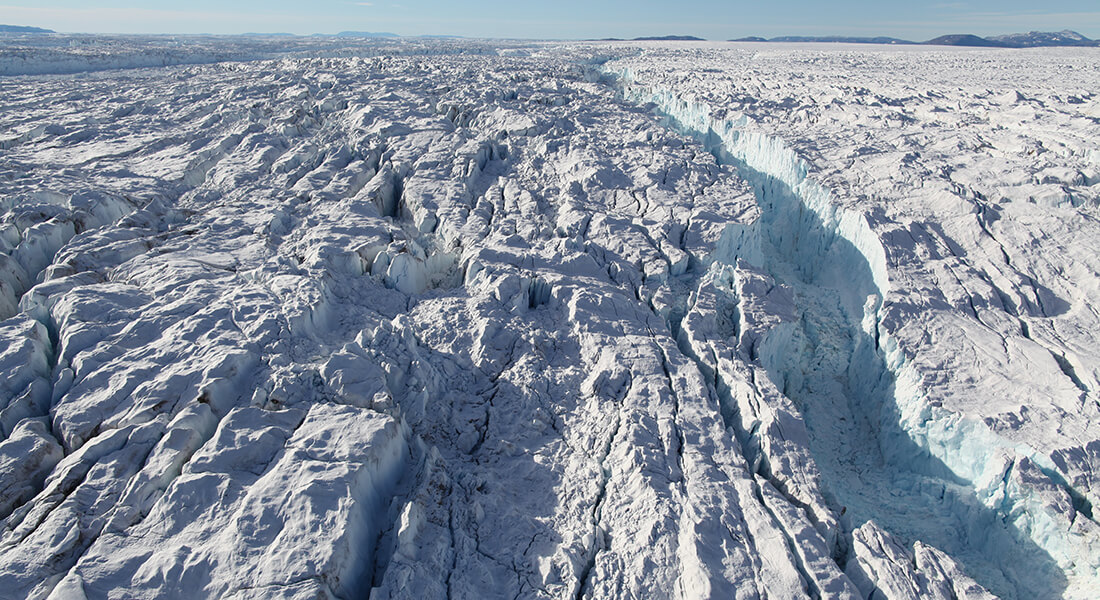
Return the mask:
{"type": "Polygon", "coordinates": [[[988,35],[1072,29],[1100,37],[1097,0],[0,0],[0,23],[94,33],[336,33],[486,37],[988,35]]]}

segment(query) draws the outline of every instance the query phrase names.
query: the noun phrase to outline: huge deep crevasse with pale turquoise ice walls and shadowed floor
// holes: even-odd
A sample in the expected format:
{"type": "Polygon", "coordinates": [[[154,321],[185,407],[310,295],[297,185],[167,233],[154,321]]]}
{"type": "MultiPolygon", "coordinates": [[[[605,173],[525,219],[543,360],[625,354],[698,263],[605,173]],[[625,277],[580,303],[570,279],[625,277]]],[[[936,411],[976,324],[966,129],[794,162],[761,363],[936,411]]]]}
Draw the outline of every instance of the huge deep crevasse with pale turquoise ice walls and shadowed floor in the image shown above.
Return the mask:
{"type": "MultiPolygon", "coordinates": [[[[667,127],[701,141],[721,163],[737,167],[756,189],[760,219],[748,226],[730,225],[711,260],[728,265],[745,260],[809,301],[802,307],[805,339],[801,347],[772,348],[760,360],[779,389],[801,400],[812,437],[818,430],[813,450],[834,492],[835,508],[839,511],[845,500],[835,492],[848,484],[836,477],[846,473],[844,467],[829,466],[850,457],[823,456],[846,443],[823,441],[821,437],[829,435],[829,429],[820,421],[814,423],[814,414],[822,419],[833,413],[806,406],[817,402],[823,389],[835,386],[829,379],[844,379],[845,410],[867,419],[868,441],[877,443],[889,473],[878,487],[888,494],[904,488],[913,498],[939,497],[927,501],[931,508],[920,506],[912,515],[904,508],[900,512],[855,510],[849,512],[848,526],[873,517],[909,543],[922,539],[946,546],[947,552],[960,555],[980,582],[1007,598],[1087,597],[1088,590],[1100,588],[1100,548],[1069,531],[1065,517],[1049,510],[1048,498],[1009,482],[1009,471],[1027,467],[1030,461],[1052,482],[1063,484],[1050,460],[925,397],[920,373],[881,323],[883,298],[890,292],[887,252],[868,216],[842,206],[829,189],[811,178],[810,165],[790,146],[752,131],[747,119],[714,118],[706,103],[639,84],[630,69],[604,67],[602,75],[625,99],[654,105],[667,127]],[[833,326],[847,330],[846,342],[831,346],[848,352],[846,366],[822,372],[811,363],[823,362],[828,348],[822,350],[822,341],[813,338],[828,335],[833,326]],[[908,522],[926,520],[930,511],[939,522],[908,522]],[[944,528],[947,533],[933,533],[944,528]]],[[[790,341],[771,340],[776,343],[790,341]]],[[[868,505],[898,500],[886,498],[868,505]]]]}

